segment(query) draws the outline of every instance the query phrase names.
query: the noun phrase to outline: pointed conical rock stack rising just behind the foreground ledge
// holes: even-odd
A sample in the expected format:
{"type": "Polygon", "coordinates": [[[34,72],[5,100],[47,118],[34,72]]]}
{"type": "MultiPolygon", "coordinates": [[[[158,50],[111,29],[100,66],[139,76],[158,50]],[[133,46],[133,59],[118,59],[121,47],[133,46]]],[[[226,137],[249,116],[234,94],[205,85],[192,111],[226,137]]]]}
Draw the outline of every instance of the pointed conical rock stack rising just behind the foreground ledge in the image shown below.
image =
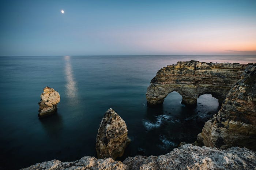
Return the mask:
{"type": "Polygon", "coordinates": [[[98,158],[121,157],[125,147],[131,142],[127,133],[124,120],[112,108],[106,111],[99,125],[96,139],[98,158]]]}

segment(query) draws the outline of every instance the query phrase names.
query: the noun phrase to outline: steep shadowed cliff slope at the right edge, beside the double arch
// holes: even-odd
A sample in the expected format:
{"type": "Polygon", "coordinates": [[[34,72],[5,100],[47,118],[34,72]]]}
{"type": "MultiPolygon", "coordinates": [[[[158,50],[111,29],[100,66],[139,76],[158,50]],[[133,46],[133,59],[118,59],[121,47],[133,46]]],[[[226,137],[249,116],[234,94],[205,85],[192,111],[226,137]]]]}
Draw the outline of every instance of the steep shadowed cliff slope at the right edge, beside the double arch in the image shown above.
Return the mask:
{"type": "Polygon", "coordinates": [[[256,64],[248,66],[230,89],[218,114],[198,134],[196,145],[256,150],[256,64]]]}

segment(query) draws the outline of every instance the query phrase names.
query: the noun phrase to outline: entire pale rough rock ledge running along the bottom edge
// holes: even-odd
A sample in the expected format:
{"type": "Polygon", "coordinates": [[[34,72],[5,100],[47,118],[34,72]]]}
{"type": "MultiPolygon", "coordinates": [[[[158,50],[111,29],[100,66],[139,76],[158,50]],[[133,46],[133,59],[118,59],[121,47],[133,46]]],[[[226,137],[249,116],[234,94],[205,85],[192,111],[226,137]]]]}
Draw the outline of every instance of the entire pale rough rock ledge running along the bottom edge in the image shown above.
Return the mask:
{"type": "Polygon", "coordinates": [[[159,157],[135,156],[128,157],[122,162],[111,158],[96,159],[83,157],[75,162],[52,160],[37,163],[24,170],[158,170],[158,169],[256,169],[256,154],[246,148],[231,147],[227,150],[199,147],[191,144],[182,145],[166,155],[159,157]]]}

